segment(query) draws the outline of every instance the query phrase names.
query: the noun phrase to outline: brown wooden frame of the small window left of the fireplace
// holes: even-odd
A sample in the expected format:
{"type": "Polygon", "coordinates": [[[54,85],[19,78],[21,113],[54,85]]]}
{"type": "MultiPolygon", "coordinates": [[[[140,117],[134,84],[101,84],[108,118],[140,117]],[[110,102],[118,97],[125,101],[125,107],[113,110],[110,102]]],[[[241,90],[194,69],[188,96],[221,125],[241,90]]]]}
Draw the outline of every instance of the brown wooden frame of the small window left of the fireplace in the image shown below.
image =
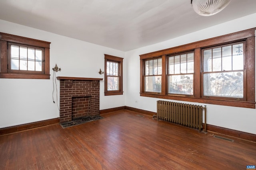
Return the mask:
{"type": "Polygon", "coordinates": [[[0,78],[23,78],[23,79],[50,79],[50,42],[0,33],[0,78]],[[11,70],[10,56],[8,46],[10,43],[15,43],[20,46],[24,45],[31,47],[39,47],[44,49],[44,62],[42,64],[42,72],[26,71],[26,70],[11,70]],[[9,68],[8,68],[9,67],[9,68]]]}

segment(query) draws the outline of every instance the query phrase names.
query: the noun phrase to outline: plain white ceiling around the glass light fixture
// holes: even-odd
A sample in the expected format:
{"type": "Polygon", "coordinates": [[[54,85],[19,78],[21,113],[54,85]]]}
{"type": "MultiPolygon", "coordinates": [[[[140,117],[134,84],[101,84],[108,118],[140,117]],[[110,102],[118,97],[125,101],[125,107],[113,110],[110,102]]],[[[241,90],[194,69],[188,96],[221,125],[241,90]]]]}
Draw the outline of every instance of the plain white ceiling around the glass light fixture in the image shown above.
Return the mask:
{"type": "Polygon", "coordinates": [[[121,51],[254,13],[256,0],[231,0],[208,17],[196,14],[190,0],[0,0],[1,20],[121,51]]]}

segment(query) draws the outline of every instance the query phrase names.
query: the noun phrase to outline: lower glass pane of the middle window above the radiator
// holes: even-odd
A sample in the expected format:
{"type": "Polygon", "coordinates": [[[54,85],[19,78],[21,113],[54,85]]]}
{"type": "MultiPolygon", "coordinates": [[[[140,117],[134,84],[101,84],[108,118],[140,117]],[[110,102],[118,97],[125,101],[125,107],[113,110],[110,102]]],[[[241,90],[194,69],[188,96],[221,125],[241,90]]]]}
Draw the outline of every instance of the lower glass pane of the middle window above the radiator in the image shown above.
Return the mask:
{"type": "Polygon", "coordinates": [[[168,93],[193,95],[193,77],[193,74],[168,76],[168,93]]]}

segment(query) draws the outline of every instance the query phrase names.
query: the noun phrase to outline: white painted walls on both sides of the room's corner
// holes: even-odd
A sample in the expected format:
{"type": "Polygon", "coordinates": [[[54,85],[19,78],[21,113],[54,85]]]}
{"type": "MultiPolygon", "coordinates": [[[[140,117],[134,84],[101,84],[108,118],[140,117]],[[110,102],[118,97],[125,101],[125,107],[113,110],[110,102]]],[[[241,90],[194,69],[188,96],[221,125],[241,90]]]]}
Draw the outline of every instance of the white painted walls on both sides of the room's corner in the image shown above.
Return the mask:
{"type": "MultiPolygon", "coordinates": [[[[256,14],[252,14],[125,53],[3,20],[0,20],[0,32],[51,42],[50,68],[58,64],[62,69],[56,76],[104,78],[103,74],[98,74],[100,68],[104,70],[104,54],[123,57],[124,95],[104,96],[104,81],[101,81],[100,110],[129,106],[156,112],[156,101],[159,99],[141,97],[139,94],[139,55],[250,29],[256,27],[255,20],[256,14]]],[[[50,80],[1,78],[0,128],[59,117],[57,105],[52,102],[52,80],[52,75],[50,80]]],[[[54,100],[56,102],[56,91],[54,100]]],[[[208,124],[256,134],[256,109],[202,105],[207,105],[208,124]]]]}

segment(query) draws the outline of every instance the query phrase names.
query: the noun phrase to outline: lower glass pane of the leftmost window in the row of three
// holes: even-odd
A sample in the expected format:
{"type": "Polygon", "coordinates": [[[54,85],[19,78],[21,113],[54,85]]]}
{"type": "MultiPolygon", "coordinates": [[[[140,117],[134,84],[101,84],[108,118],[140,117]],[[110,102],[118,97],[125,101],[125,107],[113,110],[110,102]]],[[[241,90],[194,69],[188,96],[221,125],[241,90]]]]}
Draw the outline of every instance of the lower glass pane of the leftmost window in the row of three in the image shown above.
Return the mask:
{"type": "Polygon", "coordinates": [[[161,92],[162,76],[146,76],[145,77],[145,92],[161,92]]]}

